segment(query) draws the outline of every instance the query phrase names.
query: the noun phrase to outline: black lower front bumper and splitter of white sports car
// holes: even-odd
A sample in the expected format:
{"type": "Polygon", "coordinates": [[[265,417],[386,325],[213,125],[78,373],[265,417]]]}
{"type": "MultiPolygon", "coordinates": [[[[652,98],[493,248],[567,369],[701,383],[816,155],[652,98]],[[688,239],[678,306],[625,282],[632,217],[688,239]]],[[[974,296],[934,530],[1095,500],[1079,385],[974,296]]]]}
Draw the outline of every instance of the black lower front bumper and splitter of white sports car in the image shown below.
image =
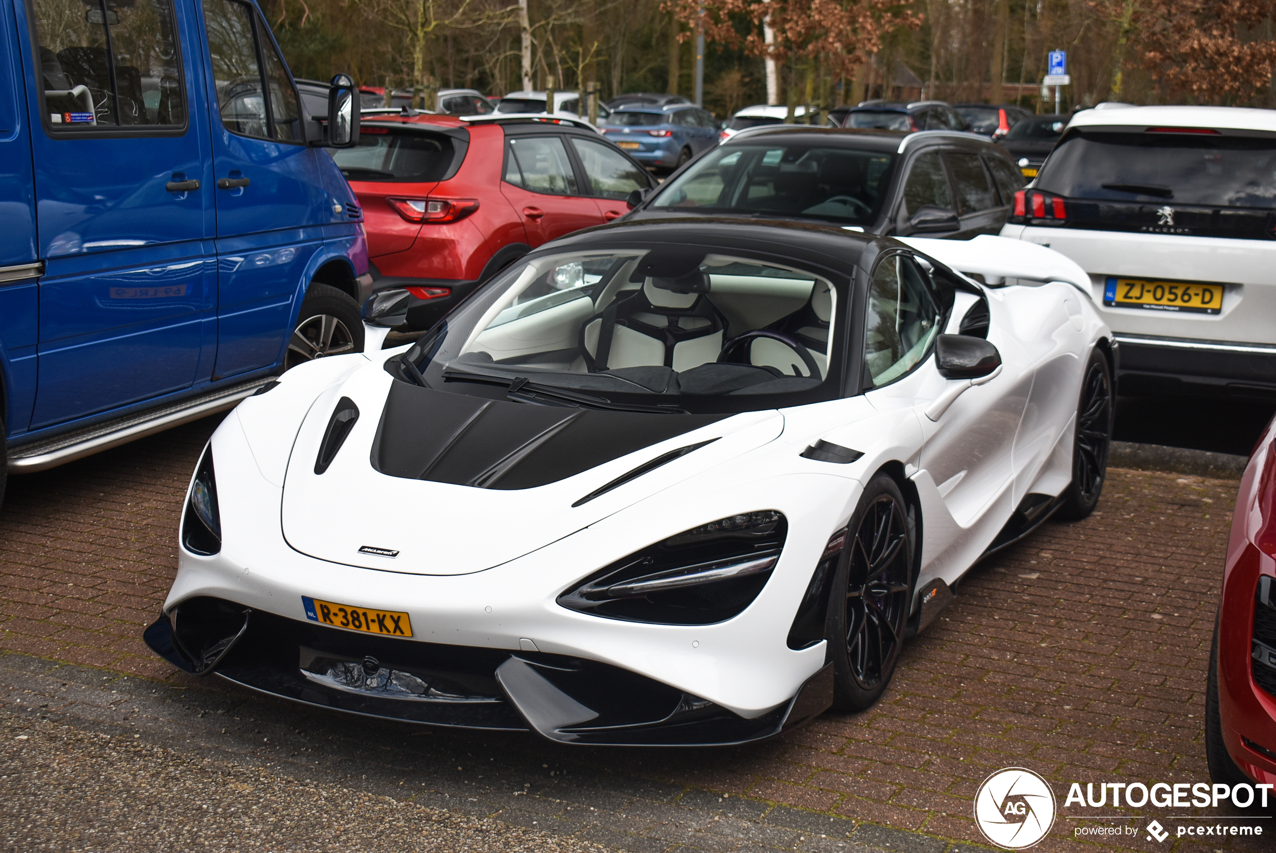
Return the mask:
{"type": "MultiPolygon", "coordinates": [[[[251,690],[364,717],[533,731],[590,746],[727,746],[773,737],[831,704],[832,666],[755,718],[646,676],[561,654],[388,639],[248,612],[208,669],[251,690]]],[[[147,643],[190,671],[166,613],[147,643]]]]}

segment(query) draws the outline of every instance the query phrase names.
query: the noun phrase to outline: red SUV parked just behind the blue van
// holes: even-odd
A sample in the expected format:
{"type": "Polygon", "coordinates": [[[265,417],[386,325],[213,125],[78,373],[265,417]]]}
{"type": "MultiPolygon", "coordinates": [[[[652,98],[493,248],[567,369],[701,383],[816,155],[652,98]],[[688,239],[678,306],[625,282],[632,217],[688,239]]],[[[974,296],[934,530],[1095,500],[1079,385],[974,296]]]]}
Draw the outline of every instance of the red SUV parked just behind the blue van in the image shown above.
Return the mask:
{"type": "Polygon", "coordinates": [[[365,115],[333,157],[364,208],[374,289],[416,297],[433,325],[481,282],[541,244],[629,212],[647,170],[587,124],[365,115]]]}

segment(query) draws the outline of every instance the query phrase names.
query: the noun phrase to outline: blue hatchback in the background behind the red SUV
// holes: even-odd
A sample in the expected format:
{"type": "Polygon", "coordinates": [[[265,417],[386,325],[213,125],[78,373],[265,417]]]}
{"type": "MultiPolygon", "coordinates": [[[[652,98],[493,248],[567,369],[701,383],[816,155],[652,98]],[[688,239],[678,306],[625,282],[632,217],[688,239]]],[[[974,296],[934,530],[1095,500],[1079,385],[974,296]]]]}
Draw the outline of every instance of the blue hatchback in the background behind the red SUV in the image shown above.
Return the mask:
{"type": "Polygon", "coordinates": [[[648,168],[678,168],[713,148],[720,131],[717,119],[689,103],[624,106],[602,128],[609,142],[648,168]]]}

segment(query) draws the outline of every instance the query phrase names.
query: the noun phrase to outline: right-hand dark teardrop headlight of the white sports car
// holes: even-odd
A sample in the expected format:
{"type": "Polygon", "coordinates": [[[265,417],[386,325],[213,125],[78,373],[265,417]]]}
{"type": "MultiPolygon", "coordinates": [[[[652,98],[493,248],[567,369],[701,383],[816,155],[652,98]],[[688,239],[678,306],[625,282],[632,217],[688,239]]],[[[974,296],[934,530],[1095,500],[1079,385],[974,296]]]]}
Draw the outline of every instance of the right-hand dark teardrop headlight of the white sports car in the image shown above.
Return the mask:
{"type": "Polygon", "coordinates": [[[741,513],[657,542],[590,575],[558,603],[629,622],[711,625],[766,587],[789,525],[776,510],[741,513]]]}

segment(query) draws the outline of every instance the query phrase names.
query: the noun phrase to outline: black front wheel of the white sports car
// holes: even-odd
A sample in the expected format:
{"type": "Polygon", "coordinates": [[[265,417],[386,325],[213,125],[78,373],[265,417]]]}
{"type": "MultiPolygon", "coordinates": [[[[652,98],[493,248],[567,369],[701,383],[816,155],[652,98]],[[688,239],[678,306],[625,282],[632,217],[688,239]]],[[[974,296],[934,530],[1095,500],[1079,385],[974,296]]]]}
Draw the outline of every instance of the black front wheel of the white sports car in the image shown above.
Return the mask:
{"type": "Polygon", "coordinates": [[[912,601],[912,530],[898,485],[878,474],[851,516],[829,601],[837,710],[870,706],[894,674],[912,601]]]}

